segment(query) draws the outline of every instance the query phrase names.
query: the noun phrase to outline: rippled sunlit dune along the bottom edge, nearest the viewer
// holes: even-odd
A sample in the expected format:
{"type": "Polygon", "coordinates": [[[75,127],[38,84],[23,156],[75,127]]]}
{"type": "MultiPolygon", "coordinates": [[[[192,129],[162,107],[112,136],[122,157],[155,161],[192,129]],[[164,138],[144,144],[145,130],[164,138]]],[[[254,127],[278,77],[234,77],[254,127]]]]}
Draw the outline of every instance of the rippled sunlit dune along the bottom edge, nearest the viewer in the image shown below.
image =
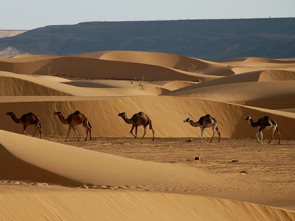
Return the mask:
{"type": "Polygon", "coordinates": [[[169,193],[1,193],[0,219],[17,220],[294,220],[293,211],[169,193]],[[19,203],[22,202],[21,206],[19,203]],[[36,202],[39,202],[36,204],[36,202]],[[50,209],[48,209],[50,208],[50,209]],[[163,212],[164,211],[164,212],[163,212]]]}

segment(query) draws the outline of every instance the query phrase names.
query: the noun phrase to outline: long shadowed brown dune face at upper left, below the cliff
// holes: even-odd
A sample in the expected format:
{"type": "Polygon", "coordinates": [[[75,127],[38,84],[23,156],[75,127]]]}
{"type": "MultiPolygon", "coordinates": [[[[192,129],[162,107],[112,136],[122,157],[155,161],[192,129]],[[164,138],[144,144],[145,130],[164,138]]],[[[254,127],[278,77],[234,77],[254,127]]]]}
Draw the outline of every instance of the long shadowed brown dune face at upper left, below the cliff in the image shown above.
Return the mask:
{"type": "MultiPolygon", "coordinates": [[[[130,52],[132,54],[132,52],[130,52]]],[[[157,60],[157,53],[149,59],[157,60]]],[[[177,55],[175,55],[177,56],[177,55]]],[[[165,57],[164,57],[165,58],[165,57]]],[[[164,60],[167,60],[165,58],[164,60]]],[[[176,58],[174,58],[176,59],[176,58]]],[[[185,58],[193,59],[193,58],[185,58]]],[[[148,60],[148,59],[147,59],[148,60]]],[[[168,59],[169,60],[169,59],[168,59]]],[[[194,60],[194,59],[193,59],[194,60]]],[[[207,61],[195,59],[202,68],[209,67],[207,61]]],[[[168,62],[168,61],[167,61],[168,62]]],[[[178,61],[177,61],[178,62],[178,61]]],[[[176,62],[176,63],[177,63],[176,62]]],[[[190,61],[189,61],[190,62],[190,61]]],[[[168,62],[169,63],[169,62],[168,62]]],[[[13,72],[27,75],[66,75],[77,78],[90,79],[142,79],[147,81],[164,80],[202,80],[219,78],[219,76],[203,75],[184,71],[184,68],[173,69],[162,64],[154,65],[147,63],[126,62],[118,60],[104,60],[88,57],[46,57],[25,56],[21,58],[0,57],[0,71],[13,72]]],[[[190,63],[191,65],[191,63],[190,63]]],[[[196,65],[196,66],[198,66],[196,65]]],[[[214,64],[215,65],[215,64],[214,64]]],[[[214,66],[213,65],[213,66],[214,66]]],[[[200,68],[200,67],[199,67],[200,68]]]]}

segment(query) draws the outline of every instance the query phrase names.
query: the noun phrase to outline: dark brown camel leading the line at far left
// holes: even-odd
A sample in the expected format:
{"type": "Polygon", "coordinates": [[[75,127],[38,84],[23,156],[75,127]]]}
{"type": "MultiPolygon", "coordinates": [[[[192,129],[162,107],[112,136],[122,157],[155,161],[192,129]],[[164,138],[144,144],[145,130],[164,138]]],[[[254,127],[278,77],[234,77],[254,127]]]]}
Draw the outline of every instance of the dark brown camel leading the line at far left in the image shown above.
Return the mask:
{"type": "Polygon", "coordinates": [[[39,117],[37,117],[35,114],[33,114],[32,112],[26,113],[24,114],[21,118],[16,118],[15,114],[13,112],[7,112],[6,113],[8,116],[11,116],[12,120],[17,123],[17,124],[22,124],[24,127],[24,135],[26,135],[26,129],[28,126],[30,125],[34,125],[35,127],[35,132],[33,137],[35,137],[36,135],[36,131],[37,129],[39,130],[39,134],[40,134],[40,139],[41,139],[41,121],[39,119],[39,117]]]}

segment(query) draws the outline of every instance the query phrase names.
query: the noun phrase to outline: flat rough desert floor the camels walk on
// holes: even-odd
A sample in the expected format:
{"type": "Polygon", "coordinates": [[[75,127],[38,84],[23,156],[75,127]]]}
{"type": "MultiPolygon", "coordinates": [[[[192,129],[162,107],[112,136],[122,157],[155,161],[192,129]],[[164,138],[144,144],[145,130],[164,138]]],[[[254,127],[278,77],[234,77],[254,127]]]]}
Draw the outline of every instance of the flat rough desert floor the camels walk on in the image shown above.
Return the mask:
{"type": "MultiPolygon", "coordinates": [[[[212,143],[200,138],[70,138],[45,139],[142,161],[184,164],[229,176],[228,183],[183,186],[142,186],[126,189],[219,197],[295,210],[295,140],[259,144],[253,139],[217,138],[212,143]],[[195,160],[199,157],[201,160],[195,160]],[[238,161],[238,162],[233,162],[238,161]],[[246,183],[231,184],[230,176],[246,177],[246,183]],[[267,178],[266,178],[267,177],[267,178]]],[[[265,140],[266,141],[266,140],[265,140]]],[[[268,141],[268,140],[267,140],[268,141]]],[[[202,177],[200,177],[202,179],[202,177]]],[[[243,179],[244,180],[244,179],[243,179]]],[[[103,189],[103,188],[102,188],[103,189]]]]}

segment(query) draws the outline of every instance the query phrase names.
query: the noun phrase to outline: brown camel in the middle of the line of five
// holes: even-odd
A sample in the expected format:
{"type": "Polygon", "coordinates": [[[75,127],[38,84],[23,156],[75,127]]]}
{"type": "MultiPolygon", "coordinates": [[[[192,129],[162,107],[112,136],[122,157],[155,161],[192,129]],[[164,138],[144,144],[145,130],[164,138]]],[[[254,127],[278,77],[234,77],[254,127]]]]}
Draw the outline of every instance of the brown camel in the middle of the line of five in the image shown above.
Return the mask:
{"type": "Polygon", "coordinates": [[[147,127],[149,125],[149,129],[152,131],[152,140],[154,140],[155,131],[152,128],[151,119],[149,118],[147,114],[145,114],[144,112],[135,113],[130,119],[127,118],[125,112],[119,113],[118,116],[122,117],[127,124],[132,124],[130,134],[132,134],[135,139],[137,138],[137,127],[144,126],[145,132],[142,137],[144,138],[147,133],[147,127]],[[135,127],[135,135],[132,133],[134,127],[135,127]]]}

